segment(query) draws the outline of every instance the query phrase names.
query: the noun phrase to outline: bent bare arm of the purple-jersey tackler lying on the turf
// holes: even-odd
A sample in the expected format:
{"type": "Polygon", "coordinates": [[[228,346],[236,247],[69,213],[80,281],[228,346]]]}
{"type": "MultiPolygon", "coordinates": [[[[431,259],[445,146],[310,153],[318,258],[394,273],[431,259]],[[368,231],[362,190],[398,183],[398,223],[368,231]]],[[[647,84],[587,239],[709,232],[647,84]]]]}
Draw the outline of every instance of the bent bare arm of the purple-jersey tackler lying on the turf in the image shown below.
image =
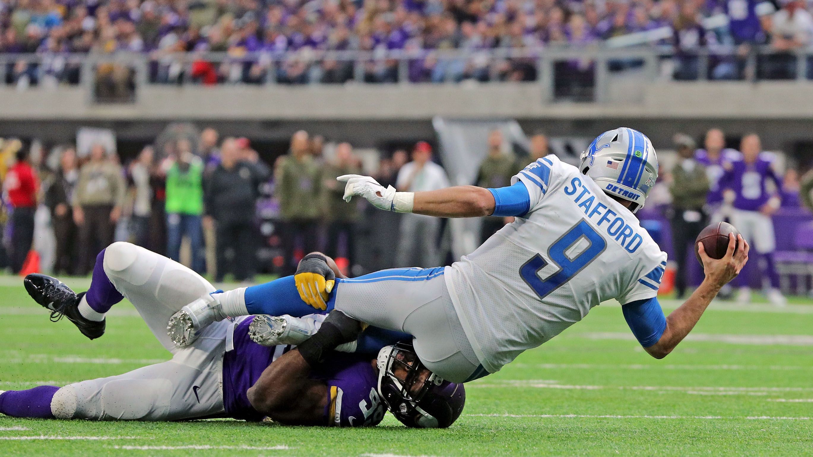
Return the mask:
{"type": "Polygon", "coordinates": [[[298,349],[275,360],[248,390],[251,406],[280,424],[325,425],[328,385],[308,378],[309,365],[298,349]]]}

